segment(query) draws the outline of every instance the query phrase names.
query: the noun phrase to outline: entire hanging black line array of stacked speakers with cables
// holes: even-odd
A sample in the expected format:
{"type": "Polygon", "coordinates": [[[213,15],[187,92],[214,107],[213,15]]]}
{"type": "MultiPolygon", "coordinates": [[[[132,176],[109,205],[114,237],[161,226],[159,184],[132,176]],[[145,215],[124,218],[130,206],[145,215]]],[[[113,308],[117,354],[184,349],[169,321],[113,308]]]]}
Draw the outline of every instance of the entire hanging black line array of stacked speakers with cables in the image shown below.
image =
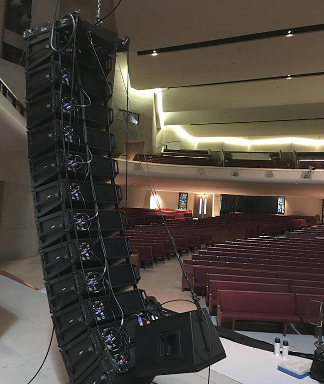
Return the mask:
{"type": "Polygon", "coordinates": [[[199,329],[195,312],[174,314],[137,288],[127,218],[118,207],[121,188],[114,183],[107,82],[111,55],[127,51],[129,38],[81,20],[78,11],[28,29],[24,38],[34,214],[70,380],[149,384],[157,373],[195,371],[222,358],[208,314],[199,329]],[[209,355],[201,341],[207,331],[209,355]]]}

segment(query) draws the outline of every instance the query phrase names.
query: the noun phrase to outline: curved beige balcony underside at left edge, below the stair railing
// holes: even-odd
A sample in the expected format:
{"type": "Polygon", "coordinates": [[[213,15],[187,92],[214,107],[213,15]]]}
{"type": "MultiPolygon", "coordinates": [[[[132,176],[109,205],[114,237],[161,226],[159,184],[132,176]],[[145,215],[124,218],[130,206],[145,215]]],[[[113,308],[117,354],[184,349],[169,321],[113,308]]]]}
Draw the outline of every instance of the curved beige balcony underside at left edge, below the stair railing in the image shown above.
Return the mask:
{"type": "Polygon", "coordinates": [[[18,149],[27,146],[26,119],[0,94],[1,149],[18,149]]]}

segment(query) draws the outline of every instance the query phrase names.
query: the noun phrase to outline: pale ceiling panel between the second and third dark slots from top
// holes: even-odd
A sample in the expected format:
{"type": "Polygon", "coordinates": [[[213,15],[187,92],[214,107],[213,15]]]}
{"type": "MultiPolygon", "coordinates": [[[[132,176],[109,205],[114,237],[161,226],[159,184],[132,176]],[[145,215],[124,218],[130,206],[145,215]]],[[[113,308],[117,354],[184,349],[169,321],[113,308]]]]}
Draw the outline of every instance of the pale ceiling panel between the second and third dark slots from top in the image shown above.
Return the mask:
{"type": "Polygon", "coordinates": [[[168,88],[162,98],[164,112],[322,103],[324,75],[168,88]]]}

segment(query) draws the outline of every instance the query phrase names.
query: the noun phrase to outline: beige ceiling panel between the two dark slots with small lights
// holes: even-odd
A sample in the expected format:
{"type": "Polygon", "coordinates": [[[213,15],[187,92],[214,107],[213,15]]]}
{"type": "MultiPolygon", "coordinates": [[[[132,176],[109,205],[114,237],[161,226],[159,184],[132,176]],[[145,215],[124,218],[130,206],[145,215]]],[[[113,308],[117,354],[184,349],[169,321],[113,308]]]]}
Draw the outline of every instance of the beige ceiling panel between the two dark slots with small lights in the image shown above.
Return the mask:
{"type": "Polygon", "coordinates": [[[274,37],[216,47],[130,54],[136,89],[233,82],[324,70],[324,31],[274,37]]]}

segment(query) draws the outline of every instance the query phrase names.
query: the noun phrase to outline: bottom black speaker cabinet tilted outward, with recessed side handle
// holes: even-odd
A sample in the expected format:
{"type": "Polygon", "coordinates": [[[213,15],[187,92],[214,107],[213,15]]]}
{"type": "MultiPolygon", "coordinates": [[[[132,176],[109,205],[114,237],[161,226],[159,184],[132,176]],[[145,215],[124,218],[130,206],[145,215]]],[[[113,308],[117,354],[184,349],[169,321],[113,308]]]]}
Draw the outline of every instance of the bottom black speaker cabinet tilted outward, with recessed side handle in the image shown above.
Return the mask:
{"type": "Polygon", "coordinates": [[[225,358],[207,308],[202,311],[201,322],[195,310],[136,328],[137,376],[198,372],[225,358]]]}

